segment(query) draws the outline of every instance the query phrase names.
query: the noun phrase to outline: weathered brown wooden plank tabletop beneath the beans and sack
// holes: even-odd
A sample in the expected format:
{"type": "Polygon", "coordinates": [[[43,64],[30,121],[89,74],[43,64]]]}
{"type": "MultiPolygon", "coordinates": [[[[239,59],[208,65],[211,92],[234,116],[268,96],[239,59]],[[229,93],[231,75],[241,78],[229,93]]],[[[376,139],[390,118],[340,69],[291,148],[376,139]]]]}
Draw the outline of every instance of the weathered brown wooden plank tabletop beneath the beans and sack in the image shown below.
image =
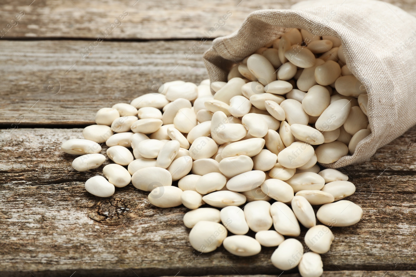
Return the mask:
{"type": "MultiPolygon", "coordinates": [[[[0,275],[280,275],[270,263],[274,248],[247,258],[223,247],[196,254],[183,206],[156,208],[131,185],[108,199],[93,197],[84,182],[102,167],[73,171],[74,157],[60,145],[82,138],[99,108],[148,92],[153,79],[199,83],[207,78],[201,55],[213,38],[254,10],[293,2],[2,1],[1,29],[15,25],[15,15],[20,20],[0,39],[0,275]],[[227,11],[225,25],[193,48],[227,11]]],[[[386,2],[416,15],[416,0],[386,2]]],[[[323,276],[416,276],[415,135],[414,127],[368,162],[341,169],[357,186],[348,199],[364,215],[332,229],[323,276]]]]}

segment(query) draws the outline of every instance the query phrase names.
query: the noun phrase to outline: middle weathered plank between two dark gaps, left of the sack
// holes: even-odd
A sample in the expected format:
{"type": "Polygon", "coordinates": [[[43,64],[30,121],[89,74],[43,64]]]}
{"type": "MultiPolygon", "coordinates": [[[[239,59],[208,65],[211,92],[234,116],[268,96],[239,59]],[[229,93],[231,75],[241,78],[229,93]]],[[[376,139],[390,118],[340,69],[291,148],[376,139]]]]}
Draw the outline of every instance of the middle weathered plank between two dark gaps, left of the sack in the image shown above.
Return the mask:
{"type": "Polygon", "coordinates": [[[199,84],[211,42],[186,59],[193,42],[101,42],[83,60],[86,41],[2,41],[0,124],[94,124],[97,110],[129,103],[153,81],[199,84]]]}

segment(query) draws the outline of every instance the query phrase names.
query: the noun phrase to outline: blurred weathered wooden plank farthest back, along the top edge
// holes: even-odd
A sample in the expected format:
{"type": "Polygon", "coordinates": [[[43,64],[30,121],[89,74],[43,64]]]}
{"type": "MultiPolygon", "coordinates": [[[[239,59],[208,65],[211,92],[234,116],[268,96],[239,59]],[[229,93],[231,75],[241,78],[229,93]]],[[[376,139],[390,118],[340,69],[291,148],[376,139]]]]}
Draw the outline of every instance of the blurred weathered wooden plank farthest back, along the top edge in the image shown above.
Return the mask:
{"type": "MultiPolygon", "coordinates": [[[[215,38],[233,32],[250,12],[270,8],[288,9],[299,0],[209,2],[203,0],[36,0],[32,4],[31,2],[23,0],[2,2],[0,27],[7,28],[7,32],[3,31],[4,33],[1,34],[4,35],[3,38],[201,39],[210,36],[215,38]],[[20,11],[24,12],[24,16],[17,22],[11,22],[20,11]],[[232,15],[225,20],[225,23],[218,24],[228,11],[232,15]],[[122,17],[123,20],[114,22],[119,15],[123,15],[123,12],[125,15],[124,18],[122,17]],[[10,24],[9,27],[7,24],[10,24]],[[113,27],[111,24],[114,24],[113,27]],[[15,27],[10,27],[11,25],[15,27]],[[110,32],[106,32],[108,28],[110,32]],[[215,32],[209,32],[211,28],[215,28],[215,32]]],[[[416,15],[415,0],[386,2],[416,15]]]]}

